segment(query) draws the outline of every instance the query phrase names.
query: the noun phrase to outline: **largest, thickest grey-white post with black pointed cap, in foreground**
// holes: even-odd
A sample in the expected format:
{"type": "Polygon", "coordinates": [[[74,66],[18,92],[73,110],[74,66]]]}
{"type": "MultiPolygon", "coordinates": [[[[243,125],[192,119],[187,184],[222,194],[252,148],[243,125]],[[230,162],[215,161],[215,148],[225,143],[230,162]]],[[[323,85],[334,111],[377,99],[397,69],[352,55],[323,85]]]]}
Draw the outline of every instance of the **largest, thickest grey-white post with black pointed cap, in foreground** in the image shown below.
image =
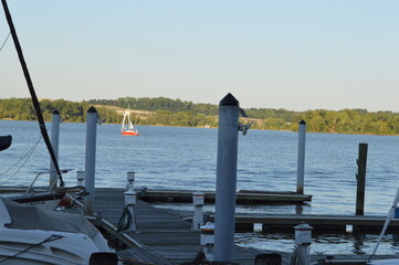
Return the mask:
{"type": "Polygon", "coordinates": [[[219,103],[214,261],[233,262],[239,102],[230,93],[219,103]]]}

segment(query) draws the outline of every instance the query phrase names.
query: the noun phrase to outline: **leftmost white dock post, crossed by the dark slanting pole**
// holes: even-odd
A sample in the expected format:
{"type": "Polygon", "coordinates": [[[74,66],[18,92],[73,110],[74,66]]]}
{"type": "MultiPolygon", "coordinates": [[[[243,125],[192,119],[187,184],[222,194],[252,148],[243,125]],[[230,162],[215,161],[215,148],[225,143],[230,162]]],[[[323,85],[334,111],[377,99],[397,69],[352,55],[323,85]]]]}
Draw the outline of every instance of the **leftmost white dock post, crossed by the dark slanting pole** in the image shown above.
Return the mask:
{"type": "MultiPolygon", "coordinates": [[[[59,145],[60,145],[60,112],[54,109],[51,120],[51,146],[53,147],[55,158],[59,158],[59,145]]],[[[50,159],[50,190],[53,191],[56,188],[56,170],[54,162],[50,159]]]]}

